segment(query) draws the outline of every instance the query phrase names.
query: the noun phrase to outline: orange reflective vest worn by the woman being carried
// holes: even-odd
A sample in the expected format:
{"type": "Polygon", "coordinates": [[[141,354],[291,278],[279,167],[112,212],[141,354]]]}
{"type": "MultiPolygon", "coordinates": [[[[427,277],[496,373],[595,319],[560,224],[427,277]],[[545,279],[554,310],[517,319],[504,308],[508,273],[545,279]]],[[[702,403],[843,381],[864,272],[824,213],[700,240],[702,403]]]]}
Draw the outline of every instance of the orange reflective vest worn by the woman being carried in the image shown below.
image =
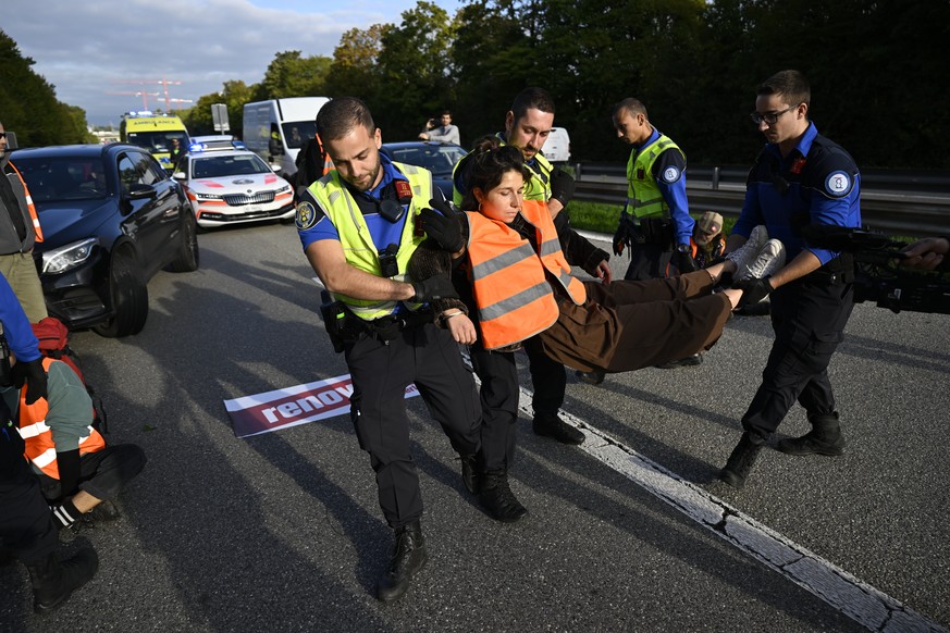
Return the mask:
{"type": "Polygon", "coordinates": [[[547,204],[525,200],[521,215],[534,226],[540,252],[505,223],[466,212],[472,295],[485,349],[514,345],[557,321],[559,310],[545,271],[575,303],[587,299],[583,284],[570,274],[547,204]]]}

